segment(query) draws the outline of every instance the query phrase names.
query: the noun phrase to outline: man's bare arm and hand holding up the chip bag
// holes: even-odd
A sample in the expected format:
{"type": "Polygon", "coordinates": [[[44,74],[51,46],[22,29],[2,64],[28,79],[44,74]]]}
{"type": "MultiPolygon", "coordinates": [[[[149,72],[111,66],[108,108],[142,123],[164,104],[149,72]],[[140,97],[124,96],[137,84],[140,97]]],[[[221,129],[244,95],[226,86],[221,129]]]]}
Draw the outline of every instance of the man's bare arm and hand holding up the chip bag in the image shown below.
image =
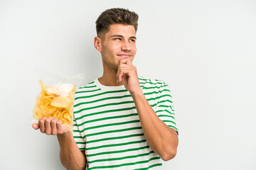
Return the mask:
{"type": "Polygon", "coordinates": [[[72,132],[62,125],[57,118],[41,118],[38,123],[33,123],[33,128],[46,135],[57,135],[60,145],[60,162],[66,169],[85,169],[85,152],[81,152],[76,145],[72,132]]]}

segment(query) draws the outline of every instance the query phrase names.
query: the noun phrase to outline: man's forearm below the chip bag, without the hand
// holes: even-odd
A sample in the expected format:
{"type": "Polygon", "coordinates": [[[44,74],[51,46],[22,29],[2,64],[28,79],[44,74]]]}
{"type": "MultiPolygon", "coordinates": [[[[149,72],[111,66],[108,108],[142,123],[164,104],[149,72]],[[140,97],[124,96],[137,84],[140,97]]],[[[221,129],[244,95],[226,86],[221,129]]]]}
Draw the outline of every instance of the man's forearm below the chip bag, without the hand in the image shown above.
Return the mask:
{"type": "Polygon", "coordinates": [[[85,169],[86,159],[73,139],[72,132],[57,135],[60,145],[60,162],[66,169],[85,169]]]}

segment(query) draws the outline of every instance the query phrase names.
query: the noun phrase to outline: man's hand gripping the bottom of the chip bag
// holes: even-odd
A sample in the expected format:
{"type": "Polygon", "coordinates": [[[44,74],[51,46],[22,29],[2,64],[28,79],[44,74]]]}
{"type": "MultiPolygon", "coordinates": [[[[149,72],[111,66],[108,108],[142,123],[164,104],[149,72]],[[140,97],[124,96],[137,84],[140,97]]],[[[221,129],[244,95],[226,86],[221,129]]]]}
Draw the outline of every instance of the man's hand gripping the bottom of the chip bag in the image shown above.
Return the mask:
{"type": "Polygon", "coordinates": [[[42,133],[46,135],[65,135],[69,132],[68,128],[62,124],[61,120],[53,117],[44,117],[38,120],[38,123],[33,123],[32,127],[35,130],[40,128],[42,133]]]}

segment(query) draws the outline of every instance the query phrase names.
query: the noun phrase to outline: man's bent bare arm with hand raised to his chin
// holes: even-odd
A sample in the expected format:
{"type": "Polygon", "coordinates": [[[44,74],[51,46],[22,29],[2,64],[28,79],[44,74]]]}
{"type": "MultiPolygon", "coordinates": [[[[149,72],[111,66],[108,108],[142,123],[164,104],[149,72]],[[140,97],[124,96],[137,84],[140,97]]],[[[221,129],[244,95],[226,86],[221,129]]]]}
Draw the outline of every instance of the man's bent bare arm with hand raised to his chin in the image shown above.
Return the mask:
{"type": "Polygon", "coordinates": [[[149,147],[156,154],[159,154],[164,161],[174,158],[178,146],[176,130],[160,120],[149,105],[149,102],[146,101],[139,86],[137,69],[132,65],[132,62],[127,59],[120,60],[118,66],[117,82],[122,81],[125,88],[132,95],[149,147]]]}

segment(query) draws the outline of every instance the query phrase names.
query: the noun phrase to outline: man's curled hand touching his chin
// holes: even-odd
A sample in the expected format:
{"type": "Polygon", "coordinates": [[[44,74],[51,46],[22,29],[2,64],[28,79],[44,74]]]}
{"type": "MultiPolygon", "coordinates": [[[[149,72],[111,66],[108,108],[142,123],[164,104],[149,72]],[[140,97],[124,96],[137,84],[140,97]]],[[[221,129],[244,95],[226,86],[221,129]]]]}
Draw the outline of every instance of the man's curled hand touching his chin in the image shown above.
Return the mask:
{"type": "Polygon", "coordinates": [[[129,59],[122,59],[119,61],[117,69],[117,83],[123,82],[125,89],[127,89],[130,94],[142,91],[139,86],[139,78],[137,74],[137,68],[132,65],[129,59]]]}

